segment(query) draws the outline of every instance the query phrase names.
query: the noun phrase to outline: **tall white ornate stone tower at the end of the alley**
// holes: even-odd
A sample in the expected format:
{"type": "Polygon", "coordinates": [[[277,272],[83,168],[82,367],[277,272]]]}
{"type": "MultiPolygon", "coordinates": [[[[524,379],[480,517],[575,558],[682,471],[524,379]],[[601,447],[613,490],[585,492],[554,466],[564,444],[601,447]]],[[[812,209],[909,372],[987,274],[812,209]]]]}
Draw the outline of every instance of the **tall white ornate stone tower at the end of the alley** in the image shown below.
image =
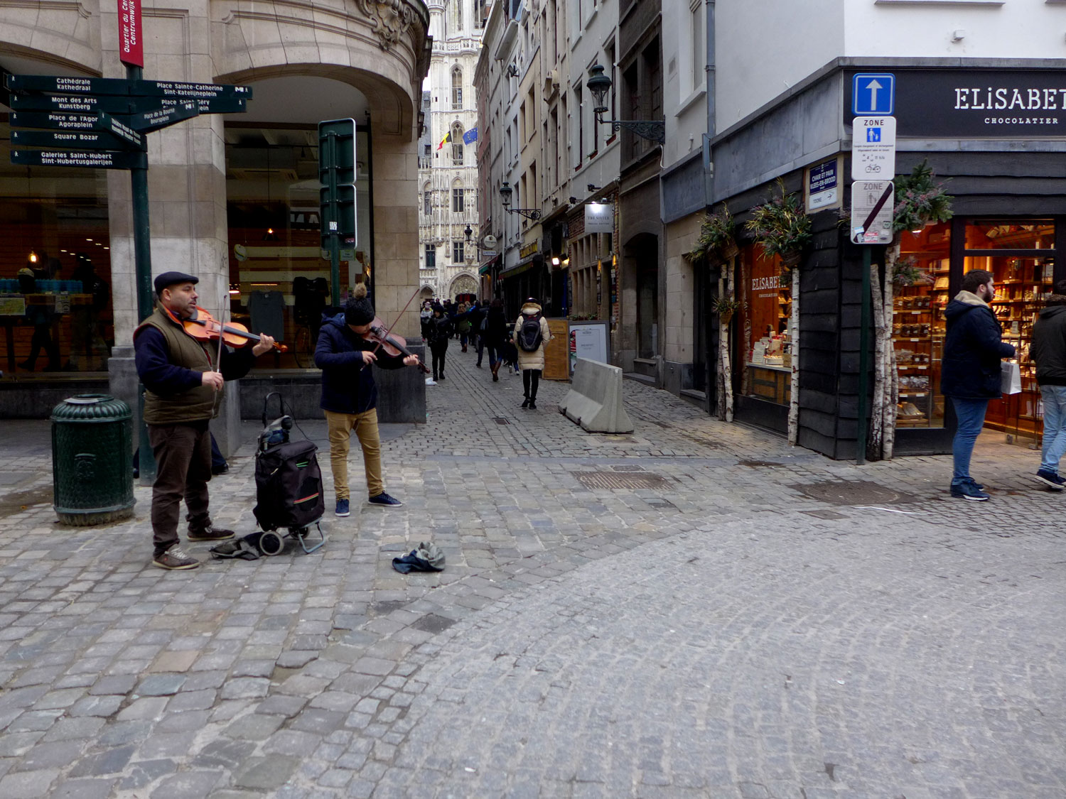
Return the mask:
{"type": "Polygon", "coordinates": [[[453,297],[478,291],[473,74],[484,17],[475,0],[427,5],[433,55],[423,84],[426,132],[419,143],[419,277],[423,294],[453,297]],[[469,241],[467,228],[473,231],[469,241]]]}

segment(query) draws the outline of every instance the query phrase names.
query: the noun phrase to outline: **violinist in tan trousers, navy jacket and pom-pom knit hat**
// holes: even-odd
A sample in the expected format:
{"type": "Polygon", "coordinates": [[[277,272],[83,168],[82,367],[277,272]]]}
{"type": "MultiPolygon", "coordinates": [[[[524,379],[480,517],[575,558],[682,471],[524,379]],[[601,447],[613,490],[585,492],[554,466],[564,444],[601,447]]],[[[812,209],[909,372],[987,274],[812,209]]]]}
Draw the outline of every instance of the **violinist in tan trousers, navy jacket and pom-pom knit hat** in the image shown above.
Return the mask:
{"type": "Polygon", "coordinates": [[[348,451],[352,430],[362,447],[369,504],[394,508],[403,503],[385,493],[382,478],[382,440],[377,430],[377,386],[372,363],[382,369],[416,366],[418,356],[387,355],[366,337],[374,321],[374,306],[365,283],[356,284],[344,311],[323,319],[314,347],[314,365],[322,370],[322,403],[329,430],[329,467],[337,493],[337,516],[349,516],[348,451]]]}

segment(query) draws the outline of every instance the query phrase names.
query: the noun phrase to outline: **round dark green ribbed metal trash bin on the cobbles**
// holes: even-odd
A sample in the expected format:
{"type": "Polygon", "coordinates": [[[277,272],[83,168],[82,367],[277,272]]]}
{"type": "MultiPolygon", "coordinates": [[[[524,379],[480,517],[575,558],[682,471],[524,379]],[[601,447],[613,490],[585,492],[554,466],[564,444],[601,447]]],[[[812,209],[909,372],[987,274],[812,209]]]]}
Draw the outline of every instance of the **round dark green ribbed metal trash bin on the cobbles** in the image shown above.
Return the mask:
{"type": "Polygon", "coordinates": [[[133,516],[130,407],[78,394],[52,408],[52,489],[61,524],[107,524],[133,516]]]}

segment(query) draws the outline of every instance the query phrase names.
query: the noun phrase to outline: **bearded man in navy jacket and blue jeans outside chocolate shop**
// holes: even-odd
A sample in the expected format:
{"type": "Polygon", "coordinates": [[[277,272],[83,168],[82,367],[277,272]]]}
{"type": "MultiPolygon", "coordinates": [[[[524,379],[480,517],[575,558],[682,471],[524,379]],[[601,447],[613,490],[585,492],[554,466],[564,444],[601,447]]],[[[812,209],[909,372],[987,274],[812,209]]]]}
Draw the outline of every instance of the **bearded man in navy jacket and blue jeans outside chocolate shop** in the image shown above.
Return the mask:
{"type": "Polygon", "coordinates": [[[1014,345],[1002,341],[1003,329],[989,305],[996,296],[992,274],[967,272],[962,288],[944,309],[948,332],[940,371],[940,392],[951,399],[958,420],[951,447],[955,467],[951,495],[984,502],[988,494],[970,476],[970,456],[985,424],[988,401],[1002,393],[1000,361],[1014,357],[1014,345]]]}

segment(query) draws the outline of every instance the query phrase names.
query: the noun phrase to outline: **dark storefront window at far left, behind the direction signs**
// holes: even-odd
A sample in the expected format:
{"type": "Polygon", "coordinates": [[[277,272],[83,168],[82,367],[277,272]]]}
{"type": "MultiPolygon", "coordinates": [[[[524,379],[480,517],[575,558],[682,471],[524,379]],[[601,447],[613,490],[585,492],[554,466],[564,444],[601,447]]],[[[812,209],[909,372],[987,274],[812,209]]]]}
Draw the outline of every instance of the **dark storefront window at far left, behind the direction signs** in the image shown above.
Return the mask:
{"type": "Polygon", "coordinates": [[[107,170],[12,164],[0,114],[0,368],[107,369],[111,282],[107,170]]]}

